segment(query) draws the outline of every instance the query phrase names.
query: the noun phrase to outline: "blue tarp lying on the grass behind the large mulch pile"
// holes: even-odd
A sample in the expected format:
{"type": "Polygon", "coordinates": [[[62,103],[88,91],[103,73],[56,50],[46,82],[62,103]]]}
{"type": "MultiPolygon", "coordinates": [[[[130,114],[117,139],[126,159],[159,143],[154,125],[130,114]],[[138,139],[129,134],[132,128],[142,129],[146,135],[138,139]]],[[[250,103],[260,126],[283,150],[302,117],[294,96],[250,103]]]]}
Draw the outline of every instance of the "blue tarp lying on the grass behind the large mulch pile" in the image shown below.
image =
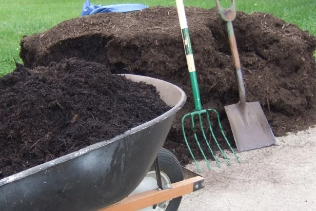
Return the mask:
{"type": "Polygon", "coordinates": [[[93,5],[89,0],[86,0],[80,16],[103,12],[131,12],[145,8],[148,8],[148,6],[141,4],[93,5]]]}

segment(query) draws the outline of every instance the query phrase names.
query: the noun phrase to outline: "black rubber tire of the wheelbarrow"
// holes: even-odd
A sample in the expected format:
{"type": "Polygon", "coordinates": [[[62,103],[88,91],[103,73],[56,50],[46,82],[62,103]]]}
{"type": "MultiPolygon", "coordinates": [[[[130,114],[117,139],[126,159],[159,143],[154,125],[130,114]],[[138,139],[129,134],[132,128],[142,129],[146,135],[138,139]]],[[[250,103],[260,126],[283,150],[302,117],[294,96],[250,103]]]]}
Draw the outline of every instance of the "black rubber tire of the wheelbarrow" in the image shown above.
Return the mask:
{"type": "MultiPolygon", "coordinates": [[[[158,160],[160,171],[163,171],[169,177],[171,183],[183,180],[182,167],[171,151],[162,148],[159,151],[158,160]]],[[[154,164],[150,170],[155,170],[154,164]]],[[[169,202],[166,211],[176,211],[180,206],[181,200],[182,196],[172,199],[169,202]]]]}

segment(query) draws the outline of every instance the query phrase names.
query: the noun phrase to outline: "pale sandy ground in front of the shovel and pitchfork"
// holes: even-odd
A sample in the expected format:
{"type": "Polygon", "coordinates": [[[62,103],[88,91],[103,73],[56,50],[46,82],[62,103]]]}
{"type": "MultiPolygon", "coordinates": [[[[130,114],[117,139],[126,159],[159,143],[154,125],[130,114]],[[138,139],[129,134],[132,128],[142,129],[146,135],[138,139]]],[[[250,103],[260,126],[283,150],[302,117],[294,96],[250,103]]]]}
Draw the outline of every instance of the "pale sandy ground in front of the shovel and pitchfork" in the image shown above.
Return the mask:
{"type": "MultiPolygon", "coordinates": [[[[315,210],[316,128],[277,138],[277,145],[238,153],[242,163],[209,171],[200,161],[205,188],[183,197],[186,210],[315,210]]],[[[198,172],[195,165],[187,168],[198,172]]]]}

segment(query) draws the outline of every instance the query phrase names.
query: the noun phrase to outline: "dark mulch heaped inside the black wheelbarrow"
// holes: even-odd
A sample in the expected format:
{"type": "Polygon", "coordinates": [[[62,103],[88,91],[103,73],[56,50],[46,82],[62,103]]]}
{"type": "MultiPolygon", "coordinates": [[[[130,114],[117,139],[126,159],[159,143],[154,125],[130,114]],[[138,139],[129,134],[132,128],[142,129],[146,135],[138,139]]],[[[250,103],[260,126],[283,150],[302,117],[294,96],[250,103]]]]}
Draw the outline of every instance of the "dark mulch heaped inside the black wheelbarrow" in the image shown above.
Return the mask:
{"type": "Polygon", "coordinates": [[[111,139],[170,109],[152,85],[70,59],[0,79],[0,179],[111,139]]]}

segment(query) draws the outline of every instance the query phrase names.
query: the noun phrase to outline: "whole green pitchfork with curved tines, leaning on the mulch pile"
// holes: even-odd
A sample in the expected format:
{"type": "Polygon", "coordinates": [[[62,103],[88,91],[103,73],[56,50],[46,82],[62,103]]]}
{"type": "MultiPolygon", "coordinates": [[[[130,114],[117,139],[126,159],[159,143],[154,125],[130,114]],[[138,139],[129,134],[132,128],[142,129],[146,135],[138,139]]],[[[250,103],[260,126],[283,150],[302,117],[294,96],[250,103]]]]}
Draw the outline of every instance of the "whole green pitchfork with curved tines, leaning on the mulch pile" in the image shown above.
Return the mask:
{"type": "Polygon", "coordinates": [[[199,91],[199,85],[198,85],[198,79],[196,78],[196,71],[195,71],[195,65],[194,65],[194,58],[193,58],[193,51],[192,51],[192,46],[191,46],[191,41],[190,41],[190,36],[189,36],[189,29],[188,29],[188,25],[187,25],[187,19],[186,19],[186,15],[185,15],[185,10],[184,10],[184,4],[182,0],[176,0],[176,8],[177,8],[177,13],[179,16],[179,22],[180,22],[180,27],[181,27],[181,34],[182,34],[182,40],[183,40],[183,44],[184,44],[184,50],[185,50],[185,54],[186,54],[186,60],[187,60],[187,65],[188,65],[188,70],[189,70],[189,75],[190,75],[190,81],[191,81],[191,86],[192,86],[192,92],[193,92],[193,100],[194,100],[194,105],[195,105],[195,111],[191,112],[191,113],[187,113],[183,116],[182,118],[182,131],[183,131],[183,136],[184,136],[184,140],[187,144],[187,147],[190,151],[191,157],[193,158],[193,161],[196,165],[196,167],[198,167],[198,170],[201,172],[201,168],[198,164],[198,162],[196,162],[195,157],[192,153],[192,150],[190,148],[190,145],[188,143],[187,140],[187,136],[186,136],[186,132],[185,132],[185,127],[184,127],[184,122],[186,120],[186,118],[191,119],[191,127],[193,130],[193,137],[195,139],[196,144],[199,146],[200,151],[206,161],[206,164],[209,168],[209,170],[211,170],[211,166],[208,162],[208,159],[205,156],[205,153],[201,147],[200,141],[198,140],[198,136],[196,134],[196,128],[195,128],[195,124],[194,124],[194,117],[198,117],[199,118],[199,124],[201,127],[201,132],[202,132],[202,136],[204,141],[206,142],[206,145],[208,147],[208,149],[210,150],[216,164],[220,166],[220,163],[218,161],[218,159],[216,158],[216,156],[214,155],[213,150],[211,149],[209,142],[207,140],[208,136],[205,133],[205,129],[203,126],[203,121],[202,121],[202,115],[203,117],[206,117],[207,123],[206,125],[208,126],[210,132],[211,132],[211,136],[214,139],[216,146],[218,146],[218,148],[221,151],[221,154],[223,155],[223,158],[226,160],[227,164],[230,165],[230,162],[227,158],[227,156],[225,155],[224,151],[222,150],[222,148],[220,147],[218,140],[216,139],[214,132],[213,132],[213,128],[211,125],[211,121],[210,121],[210,114],[209,112],[214,112],[217,116],[217,120],[218,120],[218,124],[220,127],[220,130],[222,132],[222,135],[224,136],[225,141],[227,142],[228,146],[230,147],[231,151],[233,152],[233,155],[235,156],[235,158],[240,162],[239,157],[236,156],[234,150],[232,149],[230,143],[227,140],[227,137],[223,131],[221,122],[220,122],[220,117],[219,117],[219,113],[212,109],[212,108],[208,108],[208,109],[203,109],[202,108],[202,104],[201,104],[201,99],[200,99],[200,91],[199,91]]]}

